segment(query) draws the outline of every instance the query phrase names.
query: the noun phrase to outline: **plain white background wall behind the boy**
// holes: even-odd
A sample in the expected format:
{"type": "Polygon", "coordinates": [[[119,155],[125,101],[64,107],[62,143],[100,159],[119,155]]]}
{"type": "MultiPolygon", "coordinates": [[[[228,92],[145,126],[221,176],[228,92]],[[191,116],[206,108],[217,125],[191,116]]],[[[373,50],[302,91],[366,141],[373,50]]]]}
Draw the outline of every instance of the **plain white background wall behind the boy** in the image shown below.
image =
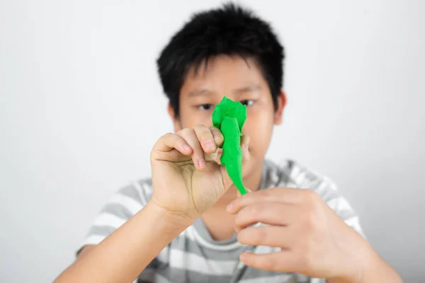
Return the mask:
{"type": "MultiPolygon", "coordinates": [[[[425,2],[243,1],[286,47],[269,156],[336,181],[368,240],[424,282],[425,2]]],[[[155,59],[220,1],[1,1],[0,281],[51,282],[172,130],[155,59]]]]}

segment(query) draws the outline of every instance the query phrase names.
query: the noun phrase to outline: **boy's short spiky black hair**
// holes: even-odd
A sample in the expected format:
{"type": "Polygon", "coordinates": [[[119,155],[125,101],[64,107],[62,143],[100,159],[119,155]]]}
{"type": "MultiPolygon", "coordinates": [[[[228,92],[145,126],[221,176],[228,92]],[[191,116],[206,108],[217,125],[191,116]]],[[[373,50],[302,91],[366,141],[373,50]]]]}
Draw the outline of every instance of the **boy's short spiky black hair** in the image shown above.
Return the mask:
{"type": "Polygon", "coordinates": [[[232,3],[195,13],[164,47],[157,67],[164,93],[179,117],[179,94],[191,67],[217,55],[253,58],[271,91],[275,109],[283,86],[283,46],[271,26],[246,8],[232,3]]]}

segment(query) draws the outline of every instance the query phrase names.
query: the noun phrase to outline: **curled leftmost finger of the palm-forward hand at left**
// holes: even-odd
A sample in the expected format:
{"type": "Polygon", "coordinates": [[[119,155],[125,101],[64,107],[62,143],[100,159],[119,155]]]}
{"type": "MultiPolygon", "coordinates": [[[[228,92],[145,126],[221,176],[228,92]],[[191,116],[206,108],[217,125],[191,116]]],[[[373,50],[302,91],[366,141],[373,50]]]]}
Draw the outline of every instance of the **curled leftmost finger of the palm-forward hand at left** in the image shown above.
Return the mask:
{"type": "Polygon", "coordinates": [[[191,155],[193,152],[191,146],[182,137],[168,133],[158,139],[152,149],[152,157],[155,160],[159,160],[166,156],[164,153],[170,153],[171,156],[168,154],[170,159],[168,161],[177,161],[176,158],[179,154],[176,151],[183,155],[191,155]]]}

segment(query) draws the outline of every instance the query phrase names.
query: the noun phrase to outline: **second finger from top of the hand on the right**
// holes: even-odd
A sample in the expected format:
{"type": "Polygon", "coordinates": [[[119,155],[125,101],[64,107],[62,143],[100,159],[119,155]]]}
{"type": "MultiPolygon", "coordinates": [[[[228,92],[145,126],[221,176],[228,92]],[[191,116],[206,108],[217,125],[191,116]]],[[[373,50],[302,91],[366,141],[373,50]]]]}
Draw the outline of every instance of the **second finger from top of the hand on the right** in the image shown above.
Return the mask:
{"type": "Polygon", "coordinates": [[[259,202],[248,205],[236,214],[234,227],[237,232],[261,222],[269,225],[293,224],[294,215],[302,212],[296,205],[288,205],[280,202],[259,202]]]}

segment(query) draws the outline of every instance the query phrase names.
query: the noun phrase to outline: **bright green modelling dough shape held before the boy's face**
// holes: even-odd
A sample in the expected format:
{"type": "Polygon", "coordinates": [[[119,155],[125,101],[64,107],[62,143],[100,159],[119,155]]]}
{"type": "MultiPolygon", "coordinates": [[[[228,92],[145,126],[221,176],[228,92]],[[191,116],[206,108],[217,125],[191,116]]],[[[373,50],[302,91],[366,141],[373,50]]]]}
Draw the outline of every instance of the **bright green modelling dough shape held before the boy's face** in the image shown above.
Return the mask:
{"type": "Polygon", "coordinates": [[[225,141],[220,162],[226,167],[230,179],[241,195],[246,194],[242,182],[241,133],[246,120],[246,105],[224,97],[212,112],[212,125],[220,129],[225,141]]]}

